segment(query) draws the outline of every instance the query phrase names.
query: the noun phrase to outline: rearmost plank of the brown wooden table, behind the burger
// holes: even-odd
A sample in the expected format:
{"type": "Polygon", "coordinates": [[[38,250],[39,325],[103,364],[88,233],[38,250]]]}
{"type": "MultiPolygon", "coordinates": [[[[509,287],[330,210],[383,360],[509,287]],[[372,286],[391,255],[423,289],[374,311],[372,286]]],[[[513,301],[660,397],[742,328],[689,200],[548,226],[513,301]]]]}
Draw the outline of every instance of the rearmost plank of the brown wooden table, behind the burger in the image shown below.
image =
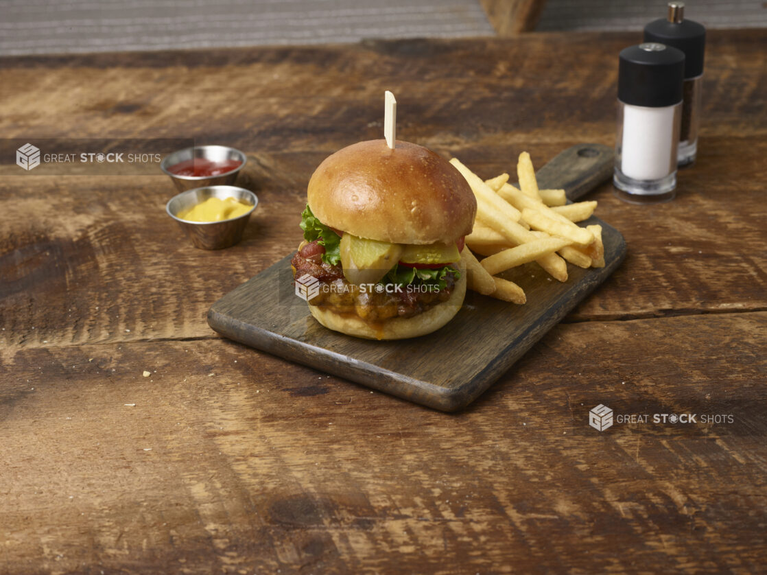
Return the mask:
{"type": "MultiPolygon", "coordinates": [[[[710,31],[703,138],[763,133],[752,96],[764,81],[765,36],[710,31]]],[[[535,34],[0,58],[0,127],[8,138],[187,136],[270,153],[334,150],[380,137],[380,97],[391,88],[401,136],[436,148],[612,145],[617,54],[626,44],[624,33],[535,34]],[[81,90],[96,84],[104,90],[81,90]]]]}

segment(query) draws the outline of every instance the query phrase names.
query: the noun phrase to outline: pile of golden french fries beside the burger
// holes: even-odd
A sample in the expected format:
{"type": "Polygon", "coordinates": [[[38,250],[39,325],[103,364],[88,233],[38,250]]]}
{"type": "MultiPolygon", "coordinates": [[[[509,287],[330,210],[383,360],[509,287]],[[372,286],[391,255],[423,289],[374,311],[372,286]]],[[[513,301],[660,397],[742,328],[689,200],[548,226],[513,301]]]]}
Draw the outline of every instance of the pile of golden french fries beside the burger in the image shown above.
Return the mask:
{"type": "Polygon", "coordinates": [[[507,173],[483,181],[458,159],[450,163],[477,199],[474,228],[461,254],[470,289],[525,304],[525,291],[498,274],[537,261],[552,278],[567,281],[565,261],[580,268],[604,267],[601,225],[575,223],[590,218],[597,202],[566,204],[564,189],[538,189],[530,154],[519,155],[519,189],[509,184],[507,173]],[[484,258],[477,260],[475,253],[484,258]]]}

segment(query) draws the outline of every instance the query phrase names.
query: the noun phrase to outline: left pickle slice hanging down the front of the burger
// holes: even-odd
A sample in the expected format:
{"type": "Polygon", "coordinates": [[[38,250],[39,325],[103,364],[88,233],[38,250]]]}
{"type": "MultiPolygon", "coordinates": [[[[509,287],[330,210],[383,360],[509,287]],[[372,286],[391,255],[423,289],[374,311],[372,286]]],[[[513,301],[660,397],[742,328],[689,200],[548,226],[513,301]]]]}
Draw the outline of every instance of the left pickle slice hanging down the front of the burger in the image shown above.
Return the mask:
{"type": "Polygon", "coordinates": [[[341,236],[341,266],[350,284],[376,284],[400,261],[403,246],[357,238],[356,235],[341,236]]]}

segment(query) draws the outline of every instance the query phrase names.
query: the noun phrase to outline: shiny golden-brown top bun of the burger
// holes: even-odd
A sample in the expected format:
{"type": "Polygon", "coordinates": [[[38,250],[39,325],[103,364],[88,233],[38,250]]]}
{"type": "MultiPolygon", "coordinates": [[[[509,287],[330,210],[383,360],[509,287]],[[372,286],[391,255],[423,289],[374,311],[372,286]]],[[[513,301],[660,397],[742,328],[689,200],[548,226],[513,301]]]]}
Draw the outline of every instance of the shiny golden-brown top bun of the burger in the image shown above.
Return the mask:
{"type": "Polygon", "coordinates": [[[472,232],[466,179],[430,149],[367,140],[328,156],[311,176],[308,204],[324,225],[393,244],[450,243],[472,232]]]}

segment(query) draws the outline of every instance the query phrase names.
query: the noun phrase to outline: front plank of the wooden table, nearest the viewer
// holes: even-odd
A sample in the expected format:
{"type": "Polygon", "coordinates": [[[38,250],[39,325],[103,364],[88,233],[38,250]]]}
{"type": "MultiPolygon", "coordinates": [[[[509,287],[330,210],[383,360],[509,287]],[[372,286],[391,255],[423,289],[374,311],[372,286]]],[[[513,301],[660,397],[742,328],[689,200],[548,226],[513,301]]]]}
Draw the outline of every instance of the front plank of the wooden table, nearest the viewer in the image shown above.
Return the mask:
{"type": "Polygon", "coordinates": [[[453,415],[225,340],[3,348],[0,571],[752,570],[765,326],[560,324],[453,415]]]}

